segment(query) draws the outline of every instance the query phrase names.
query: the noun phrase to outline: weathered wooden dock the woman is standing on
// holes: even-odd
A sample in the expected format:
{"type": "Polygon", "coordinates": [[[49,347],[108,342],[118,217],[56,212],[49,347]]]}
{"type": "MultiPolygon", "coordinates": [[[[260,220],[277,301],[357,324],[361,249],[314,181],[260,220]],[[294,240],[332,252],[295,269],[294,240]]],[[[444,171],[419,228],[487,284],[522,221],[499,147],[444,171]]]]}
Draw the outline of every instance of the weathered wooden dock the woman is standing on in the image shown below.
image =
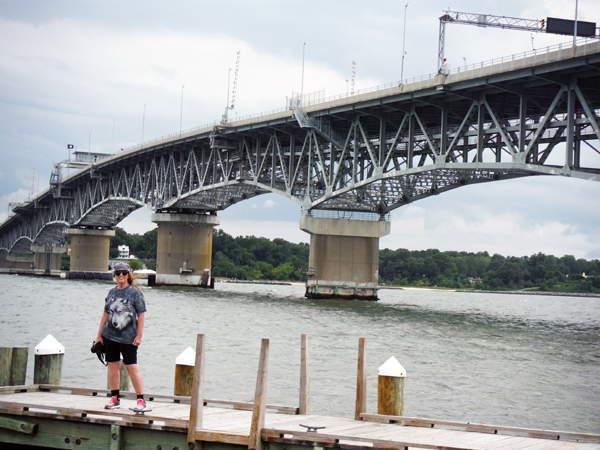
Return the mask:
{"type": "MultiPolygon", "coordinates": [[[[55,385],[0,388],[0,445],[60,449],[188,448],[190,397],[146,395],[146,415],[129,410],[126,393],[119,410],[105,410],[109,391],[55,385]]],[[[600,450],[600,435],[494,427],[460,422],[361,414],[360,420],[300,415],[298,408],[265,405],[258,435],[267,450],[306,448],[437,450],[600,450]],[[318,428],[308,431],[306,428],[318,428]],[[325,428],[319,428],[325,427],[325,428]]],[[[196,447],[255,448],[255,404],[203,400],[196,447]]],[[[16,447],[15,447],[16,448],[16,447]]]]}

